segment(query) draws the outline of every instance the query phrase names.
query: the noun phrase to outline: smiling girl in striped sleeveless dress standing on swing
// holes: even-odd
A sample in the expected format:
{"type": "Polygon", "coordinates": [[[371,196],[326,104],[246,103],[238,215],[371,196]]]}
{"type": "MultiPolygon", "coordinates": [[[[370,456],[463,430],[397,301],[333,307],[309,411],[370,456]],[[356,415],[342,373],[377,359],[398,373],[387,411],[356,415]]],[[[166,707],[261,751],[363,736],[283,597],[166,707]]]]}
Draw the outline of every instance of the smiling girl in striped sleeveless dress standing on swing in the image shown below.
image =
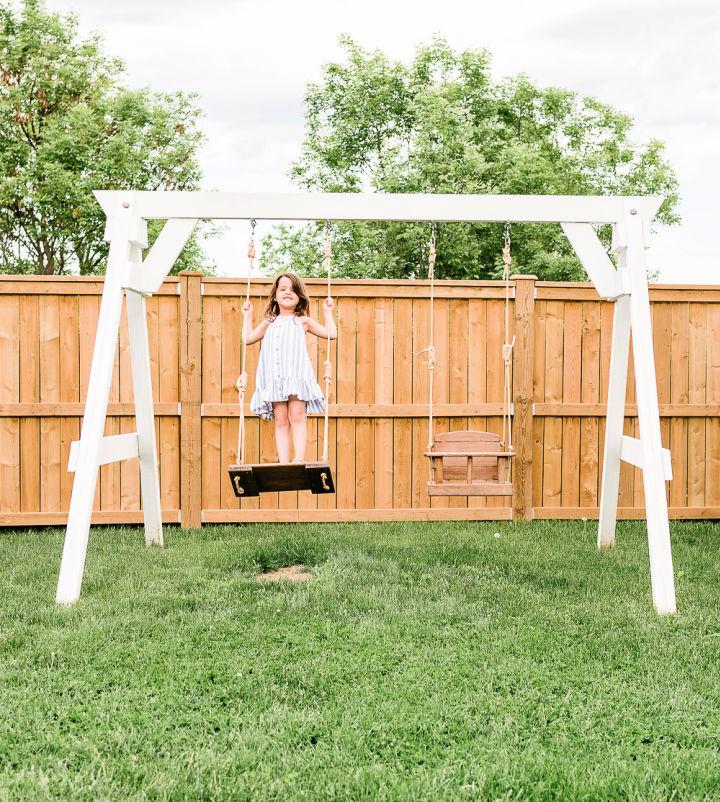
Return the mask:
{"type": "Polygon", "coordinates": [[[265,420],[275,419],[278,460],[290,462],[290,432],[294,462],[305,461],[305,416],[325,412],[325,397],[307,355],[305,332],[317,337],[337,337],[333,299],[325,299],[325,325],[309,315],[310,302],[301,279],[281,273],[270,290],[265,317],[252,327],[252,304],[243,304],[243,339],[248,345],[262,340],[255,392],[250,409],[265,420]]]}

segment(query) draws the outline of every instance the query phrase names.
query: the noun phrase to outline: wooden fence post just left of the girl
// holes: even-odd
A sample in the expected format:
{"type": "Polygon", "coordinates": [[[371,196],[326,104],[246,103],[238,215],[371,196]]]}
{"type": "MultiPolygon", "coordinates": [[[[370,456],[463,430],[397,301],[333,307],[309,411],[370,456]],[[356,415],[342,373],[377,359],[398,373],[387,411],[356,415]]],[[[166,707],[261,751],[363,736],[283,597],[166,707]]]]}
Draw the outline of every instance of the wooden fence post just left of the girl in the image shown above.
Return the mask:
{"type": "MultiPolygon", "coordinates": [[[[180,524],[201,524],[202,273],[180,274],[180,524]]],[[[161,335],[162,336],[162,335],[161,335]]]]}

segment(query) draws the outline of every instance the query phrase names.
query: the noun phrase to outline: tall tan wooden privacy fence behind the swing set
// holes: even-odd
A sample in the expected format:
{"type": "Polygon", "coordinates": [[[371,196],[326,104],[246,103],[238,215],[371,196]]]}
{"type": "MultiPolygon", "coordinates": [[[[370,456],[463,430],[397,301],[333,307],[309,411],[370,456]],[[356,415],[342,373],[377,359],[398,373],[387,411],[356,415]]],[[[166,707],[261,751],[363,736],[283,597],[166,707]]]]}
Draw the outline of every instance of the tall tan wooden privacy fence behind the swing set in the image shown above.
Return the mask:
{"type": "MultiPolygon", "coordinates": [[[[268,281],[253,281],[259,318],[268,281]]],[[[313,313],[324,286],[310,281],[313,313]]],[[[96,278],[0,278],[0,524],[61,524],[66,471],[87,391],[102,292],[96,278]]],[[[330,459],[337,493],[265,494],[239,502],[226,466],[235,459],[240,362],[237,279],[186,273],[148,300],[163,517],[270,520],[593,518],[597,516],[612,304],[583,284],[520,278],[516,336],[512,498],[428,498],[428,374],[424,282],[340,281],[330,459]]],[[[503,287],[439,282],[435,309],[437,430],[500,431],[503,287]]],[[[720,288],[651,290],[663,444],[672,451],[674,517],[720,518],[720,288]]],[[[320,343],[308,338],[317,369],[320,343]]],[[[254,378],[259,348],[249,348],[254,378]]],[[[107,434],[134,430],[123,322],[107,434]]],[[[635,433],[634,382],[626,432],[635,433]]],[[[321,431],[321,427],[320,427],[321,431]]],[[[248,422],[250,461],[274,460],[272,424],[248,422]]],[[[309,422],[308,456],[319,453],[309,422]]],[[[620,517],[644,517],[640,472],[623,465],[620,517]]],[[[140,522],[137,460],[101,468],[95,522],[140,522]]]]}

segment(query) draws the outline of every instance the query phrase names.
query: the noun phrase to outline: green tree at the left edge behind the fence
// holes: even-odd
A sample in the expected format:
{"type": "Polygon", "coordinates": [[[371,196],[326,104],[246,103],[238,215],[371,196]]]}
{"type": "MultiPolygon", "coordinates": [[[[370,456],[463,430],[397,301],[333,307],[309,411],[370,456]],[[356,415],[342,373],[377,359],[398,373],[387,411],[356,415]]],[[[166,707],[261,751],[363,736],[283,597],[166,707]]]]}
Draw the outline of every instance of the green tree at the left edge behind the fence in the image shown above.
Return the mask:
{"type": "MultiPolygon", "coordinates": [[[[0,272],[102,272],[92,190],[197,188],[194,96],[131,91],[122,72],[74,16],[0,2],[0,272]]],[[[183,267],[202,267],[196,240],[183,267]]]]}

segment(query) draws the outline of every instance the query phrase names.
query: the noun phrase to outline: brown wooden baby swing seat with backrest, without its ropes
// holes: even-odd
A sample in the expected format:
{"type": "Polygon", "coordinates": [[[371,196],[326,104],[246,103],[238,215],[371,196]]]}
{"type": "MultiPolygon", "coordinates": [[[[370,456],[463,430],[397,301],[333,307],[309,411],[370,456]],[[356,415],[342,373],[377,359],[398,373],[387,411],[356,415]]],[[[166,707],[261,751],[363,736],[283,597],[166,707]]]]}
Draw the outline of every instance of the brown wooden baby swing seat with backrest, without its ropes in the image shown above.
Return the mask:
{"type": "Polygon", "coordinates": [[[432,460],[431,496],[512,496],[510,460],[493,432],[443,432],[425,456],[432,460]]]}

